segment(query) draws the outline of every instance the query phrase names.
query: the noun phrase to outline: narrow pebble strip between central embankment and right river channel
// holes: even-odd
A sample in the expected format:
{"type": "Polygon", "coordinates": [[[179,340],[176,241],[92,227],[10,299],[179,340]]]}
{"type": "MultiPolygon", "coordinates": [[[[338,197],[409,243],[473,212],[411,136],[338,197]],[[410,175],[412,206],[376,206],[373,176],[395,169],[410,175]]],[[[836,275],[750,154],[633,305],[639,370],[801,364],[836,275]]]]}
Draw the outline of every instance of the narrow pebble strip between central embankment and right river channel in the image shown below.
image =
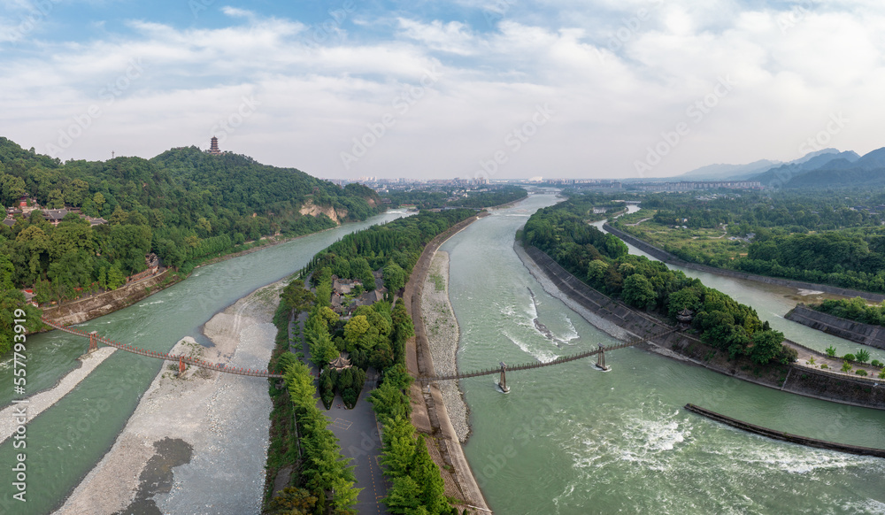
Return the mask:
{"type": "MultiPolygon", "coordinates": [[[[437,250],[431,263],[421,296],[421,316],[427,327],[427,341],[437,374],[458,373],[457,354],[460,341],[458,320],[449,302],[449,253],[437,250]]],[[[470,436],[469,412],[457,380],[439,383],[443,404],[459,442],[470,436]]]]}

